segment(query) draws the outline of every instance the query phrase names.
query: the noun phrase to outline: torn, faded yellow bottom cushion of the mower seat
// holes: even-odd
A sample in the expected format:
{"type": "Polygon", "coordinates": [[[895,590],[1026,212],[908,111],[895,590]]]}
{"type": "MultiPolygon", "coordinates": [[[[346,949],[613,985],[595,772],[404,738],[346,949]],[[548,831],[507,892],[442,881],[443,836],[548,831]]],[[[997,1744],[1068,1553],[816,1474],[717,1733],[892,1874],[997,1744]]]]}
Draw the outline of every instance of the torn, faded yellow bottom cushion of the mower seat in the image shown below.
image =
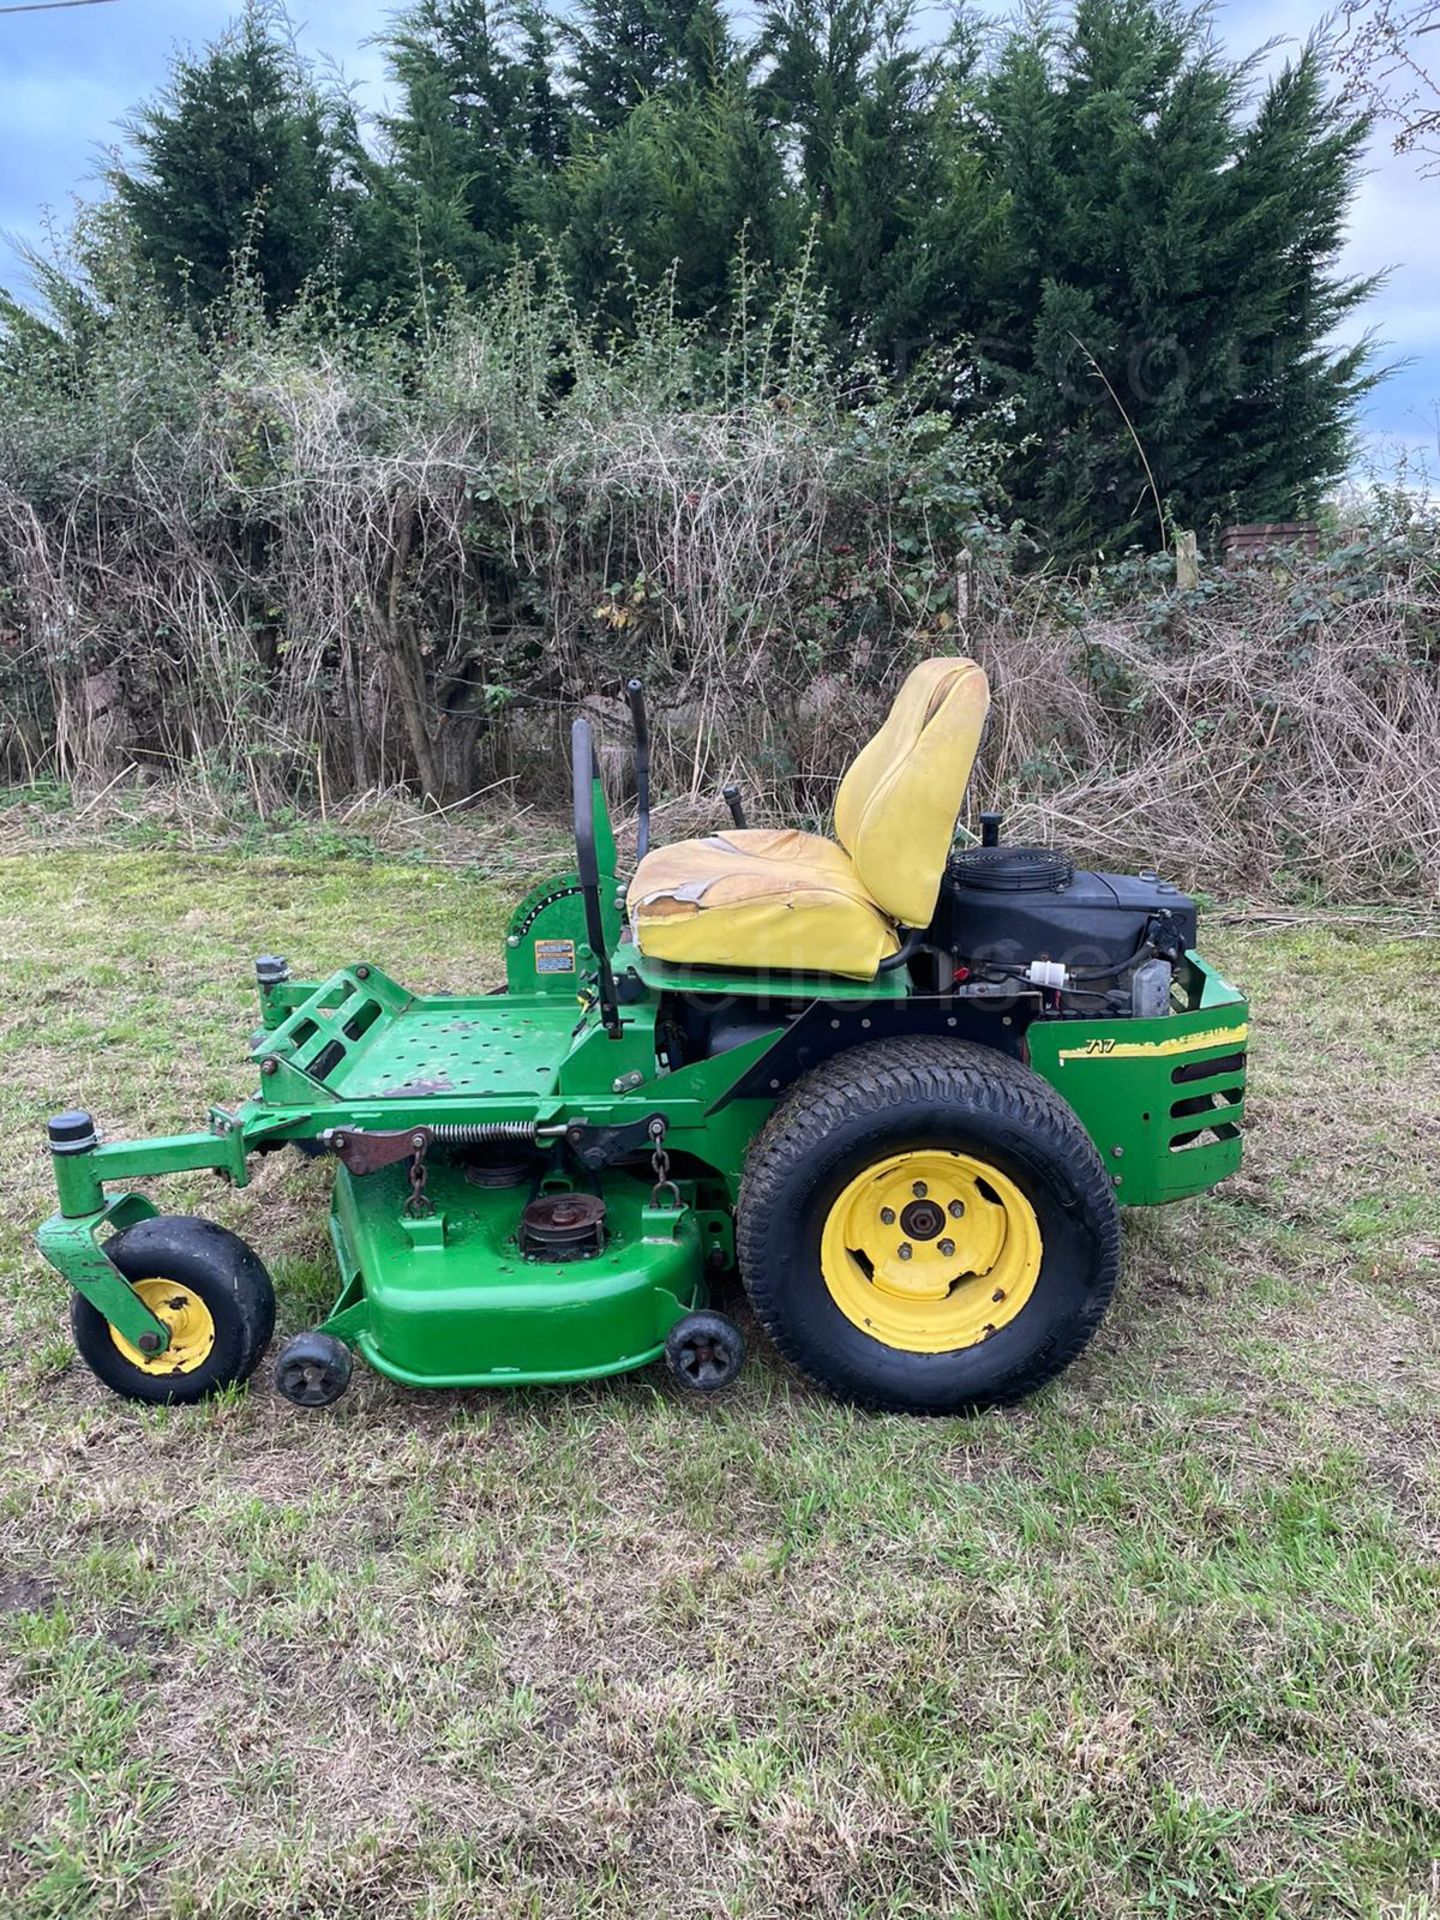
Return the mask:
{"type": "Polygon", "coordinates": [[[818,833],[735,828],[647,852],[626,895],[636,945],[685,966],[874,979],[895,927],[818,833]]]}

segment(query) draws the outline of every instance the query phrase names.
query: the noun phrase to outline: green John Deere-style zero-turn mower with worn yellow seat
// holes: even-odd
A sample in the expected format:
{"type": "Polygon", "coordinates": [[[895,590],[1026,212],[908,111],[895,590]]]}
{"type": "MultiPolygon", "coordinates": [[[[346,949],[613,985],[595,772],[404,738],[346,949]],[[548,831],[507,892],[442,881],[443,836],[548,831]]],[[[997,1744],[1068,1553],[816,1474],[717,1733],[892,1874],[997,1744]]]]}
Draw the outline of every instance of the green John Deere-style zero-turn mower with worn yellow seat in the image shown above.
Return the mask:
{"type": "MultiPolygon", "coordinates": [[[[515,910],[507,985],[422,996],[376,966],[255,962],[259,1091],[209,1125],[100,1142],[50,1121],[60,1213],[38,1240],[75,1342],[115,1392],[244,1380],[275,1294],[225,1227],[161,1215],[159,1173],[246,1185],[252,1154],[336,1162],[340,1294],[280,1352],[298,1405],[351,1354],[407,1386],[588,1380],[666,1357],[701,1392],[741,1367],[707,1277],[866,1407],[962,1413],[1062,1371],[1116,1284],[1119,1206],[1240,1160],[1246,1006],[1156,874],[1043,847],[952,851],[989,691],[933,659],[835,801],[835,841],[733,828],[649,849],[639,682],[628,889],[576,720],[576,866],[515,910]]],[[[973,839],[973,835],[972,835],[973,839]]]]}

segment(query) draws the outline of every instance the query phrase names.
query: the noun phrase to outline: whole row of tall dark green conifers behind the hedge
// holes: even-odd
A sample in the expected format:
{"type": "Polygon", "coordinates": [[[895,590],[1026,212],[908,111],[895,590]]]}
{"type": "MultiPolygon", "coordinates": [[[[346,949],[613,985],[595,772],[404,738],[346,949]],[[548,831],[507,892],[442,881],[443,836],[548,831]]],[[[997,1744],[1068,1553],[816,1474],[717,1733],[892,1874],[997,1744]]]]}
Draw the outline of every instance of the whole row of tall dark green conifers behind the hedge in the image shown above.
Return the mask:
{"type": "Polygon", "coordinates": [[[814,234],[837,359],[943,348],[937,401],[1010,401],[1048,553],[1311,509],[1377,378],[1334,346],[1365,123],[1319,50],[1260,86],[1181,0],[1033,0],[989,54],[914,4],[764,0],[745,44],[722,0],[409,0],[376,140],[250,0],[136,111],[113,205],[186,307],[244,255],[271,311],[323,275],[403,317],[547,240],[616,326],[666,278],[722,319],[741,248],[755,290],[814,234]]]}

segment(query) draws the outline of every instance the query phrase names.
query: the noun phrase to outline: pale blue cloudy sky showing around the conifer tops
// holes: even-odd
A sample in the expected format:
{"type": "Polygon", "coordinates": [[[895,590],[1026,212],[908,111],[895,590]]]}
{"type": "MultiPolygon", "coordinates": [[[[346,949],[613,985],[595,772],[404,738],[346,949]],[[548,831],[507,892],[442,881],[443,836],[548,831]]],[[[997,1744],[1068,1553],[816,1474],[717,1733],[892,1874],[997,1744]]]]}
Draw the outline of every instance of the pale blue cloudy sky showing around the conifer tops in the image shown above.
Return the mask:
{"type": "MultiPolygon", "coordinates": [[[[0,0],[4,4],[4,0],[0,0]]],[[[384,96],[384,61],[367,46],[394,12],[392,0],[296,0],[301,42],[328,56],[361,86],[369,104],[384,96]]],[[[1319,21],[1319,0],[1231,0],[1217,25],[1235,52],[1279,38],[1296,44],[1319,21]]],[[[177,42],[204,44],[232,13],[228,0],[111,0],[54,13],[0,13],[0,232],[35,240],[42,211],[67,215],[73,194],[94,192],[117,123],[165,79],[177,42]]],[[[1440,407],[1440,180],[1396,159],[1380,136],[1357,196],[1344,265],[1352,273],[1392,269],[1361,326],[1386,344],[1386,359],[1407,361],[1371,397],[1365,436],[1390,465],[1400,445],[1425,449],[1436,465],[1440,407]]],[[[21,286],[13,248],[0,242],[0,284],[21,286]]]]}

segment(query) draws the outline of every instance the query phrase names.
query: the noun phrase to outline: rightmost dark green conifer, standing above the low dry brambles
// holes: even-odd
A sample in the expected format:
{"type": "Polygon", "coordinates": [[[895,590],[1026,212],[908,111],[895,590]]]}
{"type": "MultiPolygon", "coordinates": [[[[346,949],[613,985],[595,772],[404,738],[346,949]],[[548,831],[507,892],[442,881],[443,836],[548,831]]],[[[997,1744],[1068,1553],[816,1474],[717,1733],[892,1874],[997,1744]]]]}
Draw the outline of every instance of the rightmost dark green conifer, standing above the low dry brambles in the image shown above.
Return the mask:
{"type": "Polygon", "coordinates": [[[1012,269],[973,319],[1046,541],[1309,509],[1373,378],[1365,348],[1327,348],[1371,282],[1334,275],[1365,127],[1317,54],[1246,123],[1246,67],[1202,17],[1079,0],[1064,33],[1012,35],[983,109],[1012,269]]]}

